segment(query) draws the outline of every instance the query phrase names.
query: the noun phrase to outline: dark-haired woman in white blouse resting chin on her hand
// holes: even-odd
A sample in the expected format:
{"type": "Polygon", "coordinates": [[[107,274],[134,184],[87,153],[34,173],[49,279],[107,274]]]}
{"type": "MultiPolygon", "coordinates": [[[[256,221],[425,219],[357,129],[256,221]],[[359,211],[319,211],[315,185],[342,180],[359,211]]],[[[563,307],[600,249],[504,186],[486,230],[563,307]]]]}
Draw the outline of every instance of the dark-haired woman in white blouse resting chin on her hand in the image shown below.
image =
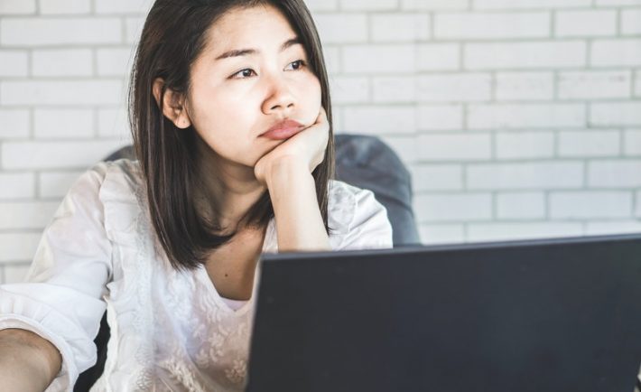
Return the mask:
{"type": "MultiPolygon", "coordinates": [[[[136,161],[98,163],[0,287],[0,390],[242,390],[263,252],[391,247],[332,180],[330,93],[302,0],[157,0],[130,84],[136,161]]],[[[329,287],[330,289],[330,287],[329,287]]]]}

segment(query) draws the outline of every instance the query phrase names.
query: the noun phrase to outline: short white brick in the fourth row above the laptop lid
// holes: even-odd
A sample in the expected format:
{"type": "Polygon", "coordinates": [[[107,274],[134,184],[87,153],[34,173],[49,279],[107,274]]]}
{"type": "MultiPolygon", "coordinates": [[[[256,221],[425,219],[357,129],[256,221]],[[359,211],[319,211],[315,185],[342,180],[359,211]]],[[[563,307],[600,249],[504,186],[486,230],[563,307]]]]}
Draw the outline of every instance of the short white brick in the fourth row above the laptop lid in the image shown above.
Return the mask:
{"type": "Polygon", "coordinates": [[[551,158],[554,155],[553,132],[496,134],[497,159],[551,158]]]}

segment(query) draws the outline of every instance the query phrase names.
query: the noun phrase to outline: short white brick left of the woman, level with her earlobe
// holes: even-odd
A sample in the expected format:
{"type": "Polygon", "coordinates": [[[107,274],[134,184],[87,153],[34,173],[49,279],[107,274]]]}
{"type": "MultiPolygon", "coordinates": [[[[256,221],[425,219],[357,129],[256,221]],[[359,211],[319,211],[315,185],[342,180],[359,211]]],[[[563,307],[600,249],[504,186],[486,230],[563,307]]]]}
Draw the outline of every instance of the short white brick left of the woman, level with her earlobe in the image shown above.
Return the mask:
{"type": "Polygon", "coordinates": [[[87,138],[94,135],[91,109],[36,109],[33,118],[36,138],[87,138]]]}

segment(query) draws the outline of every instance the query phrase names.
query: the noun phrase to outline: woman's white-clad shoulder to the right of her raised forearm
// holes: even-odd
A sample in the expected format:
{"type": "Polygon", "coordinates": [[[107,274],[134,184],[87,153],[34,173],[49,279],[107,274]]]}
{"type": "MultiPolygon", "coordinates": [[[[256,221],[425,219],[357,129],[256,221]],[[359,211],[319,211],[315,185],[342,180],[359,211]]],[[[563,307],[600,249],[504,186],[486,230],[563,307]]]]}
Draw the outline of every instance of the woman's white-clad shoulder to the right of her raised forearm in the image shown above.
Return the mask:
{"type": "Polygon", "coordinates": [[[392,247],[392,226],[374,192],[330,180],[328,223],[333,248],[392,247]]]}

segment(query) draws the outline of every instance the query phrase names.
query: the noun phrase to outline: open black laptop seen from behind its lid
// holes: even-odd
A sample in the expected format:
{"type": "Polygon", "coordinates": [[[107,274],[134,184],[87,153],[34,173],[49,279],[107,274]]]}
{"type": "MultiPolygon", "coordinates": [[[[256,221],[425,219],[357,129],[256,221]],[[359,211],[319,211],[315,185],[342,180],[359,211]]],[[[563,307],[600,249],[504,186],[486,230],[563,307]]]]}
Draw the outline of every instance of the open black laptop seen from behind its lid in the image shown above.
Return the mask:
{"type": "Polygon", "coordinates": [[[632,392],[641,235],[264,255],[248,392],[632,392]]]}

